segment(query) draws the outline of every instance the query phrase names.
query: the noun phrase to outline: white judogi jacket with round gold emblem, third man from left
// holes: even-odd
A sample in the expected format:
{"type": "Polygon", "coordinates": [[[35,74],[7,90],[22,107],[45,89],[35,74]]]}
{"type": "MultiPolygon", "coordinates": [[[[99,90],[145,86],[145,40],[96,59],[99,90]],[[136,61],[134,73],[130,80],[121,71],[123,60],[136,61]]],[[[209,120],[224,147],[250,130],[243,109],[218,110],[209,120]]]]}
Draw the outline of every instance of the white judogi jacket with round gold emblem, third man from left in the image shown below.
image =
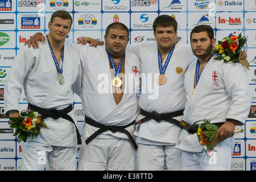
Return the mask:
{"type": "MultiPolygon", "coordinates": [[[[164,73],[167,82],[158,85],[159,76],[158,47],[156,43],[129,47],[131,52],[141,59],[142,93],[139,100],[141,108],[148,112],[170,113],[184,109],[185,89],[184,73],[188,65],[196,59],[191,48],[180,40],[176,43],[170,63],[164,73]]],[[[167,58],[167,56],[166,56],[167,58]]],[[[163,61],[163,65],[166,59],[163,61]]],[[[139,115],[138,119],[141,119],[139,115]]],[[[182,116],[175,117],[181,121],[182,116]]],[[[179,139],[180,127],[166,121],[156,122],[154,119],[137,127],[137,142],[144,144],[170,144],[179,139]],[[145,140],[146,139],[146,140],[145,140]]]]}

